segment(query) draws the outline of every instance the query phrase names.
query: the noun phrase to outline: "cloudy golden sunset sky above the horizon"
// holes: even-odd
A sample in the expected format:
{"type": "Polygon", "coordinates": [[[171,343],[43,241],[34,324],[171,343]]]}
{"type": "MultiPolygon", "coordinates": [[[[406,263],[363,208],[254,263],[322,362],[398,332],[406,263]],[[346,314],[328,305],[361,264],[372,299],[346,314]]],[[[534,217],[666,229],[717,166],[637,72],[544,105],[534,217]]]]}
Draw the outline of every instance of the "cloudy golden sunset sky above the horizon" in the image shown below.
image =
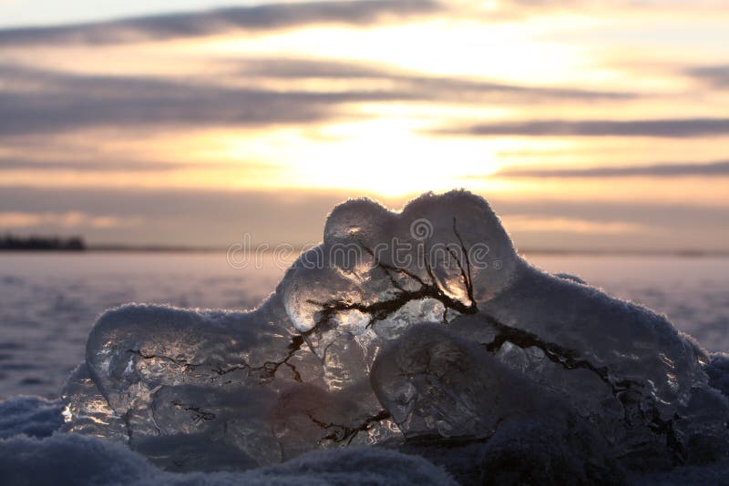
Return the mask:
{"type": "Polygon", "coordinates": [[[729,5],[0,0],[0,232],[294,246],[465,187],[522,249],[729,251],[729,5]]]}

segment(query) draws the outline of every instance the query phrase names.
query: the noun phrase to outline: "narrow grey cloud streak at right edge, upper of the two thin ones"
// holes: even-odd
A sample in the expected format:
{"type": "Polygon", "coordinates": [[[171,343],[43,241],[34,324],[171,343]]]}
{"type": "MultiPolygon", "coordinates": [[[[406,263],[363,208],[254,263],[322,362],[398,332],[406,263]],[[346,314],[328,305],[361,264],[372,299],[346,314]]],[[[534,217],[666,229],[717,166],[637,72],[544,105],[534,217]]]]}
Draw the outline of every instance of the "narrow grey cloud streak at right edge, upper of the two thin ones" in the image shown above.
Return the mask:
{"type": "Polygon", "coordinates": [[[712,137],[729,134],[729,118],[519,121],[441,128],[431,133],[471,137],[712,137]]]}

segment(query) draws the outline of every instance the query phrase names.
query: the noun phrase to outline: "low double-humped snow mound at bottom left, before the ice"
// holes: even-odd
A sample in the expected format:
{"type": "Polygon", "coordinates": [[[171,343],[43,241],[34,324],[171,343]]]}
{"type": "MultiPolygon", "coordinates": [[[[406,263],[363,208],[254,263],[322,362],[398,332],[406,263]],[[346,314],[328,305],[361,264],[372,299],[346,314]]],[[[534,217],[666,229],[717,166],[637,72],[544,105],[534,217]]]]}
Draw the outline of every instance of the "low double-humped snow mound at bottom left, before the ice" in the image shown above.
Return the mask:
{"type": "Polygon", "coordinates": [[[61,433],[41,440],[26,436],[0,440],[0,473],[4,484],[36,486],[455,484],[446,472],[419,457],[375,448],[314,451],[255,471],[180,474],[161,471],[108,440],[61,433]]]}

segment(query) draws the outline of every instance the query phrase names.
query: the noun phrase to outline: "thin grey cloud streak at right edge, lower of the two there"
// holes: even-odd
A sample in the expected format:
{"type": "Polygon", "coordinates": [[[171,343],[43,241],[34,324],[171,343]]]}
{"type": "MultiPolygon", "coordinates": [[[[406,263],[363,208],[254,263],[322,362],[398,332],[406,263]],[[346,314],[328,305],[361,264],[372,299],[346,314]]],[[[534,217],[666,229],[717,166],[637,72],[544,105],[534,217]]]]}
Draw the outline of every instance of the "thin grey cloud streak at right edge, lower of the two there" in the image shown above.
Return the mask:
{"type": "Polygon", "coordinates": [[[729,176],[729,160],[706,164],[655,164],[635,167],[513,167],[489,177],[683,177],[729,176]]]}

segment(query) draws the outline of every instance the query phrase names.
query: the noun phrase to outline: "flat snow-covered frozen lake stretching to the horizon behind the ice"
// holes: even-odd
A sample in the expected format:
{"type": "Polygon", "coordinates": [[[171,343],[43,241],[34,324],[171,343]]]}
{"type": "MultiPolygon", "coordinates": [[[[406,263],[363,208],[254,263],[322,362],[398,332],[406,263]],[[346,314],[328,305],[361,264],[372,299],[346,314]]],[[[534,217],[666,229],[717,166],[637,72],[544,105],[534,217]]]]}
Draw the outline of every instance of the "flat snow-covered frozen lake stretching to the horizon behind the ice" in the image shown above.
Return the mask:
{"type": "MultiPolygon", "coordinates": [[[[527,255],[611,295],[665,313],[706,349],[729,350],[729,258],[527,255]]],[[[57,397],[98,315],[128,302],[248,309],[275,289],[287,261],[231,268],[212,253],[0,255],[0,400],[57,397]]]]}

